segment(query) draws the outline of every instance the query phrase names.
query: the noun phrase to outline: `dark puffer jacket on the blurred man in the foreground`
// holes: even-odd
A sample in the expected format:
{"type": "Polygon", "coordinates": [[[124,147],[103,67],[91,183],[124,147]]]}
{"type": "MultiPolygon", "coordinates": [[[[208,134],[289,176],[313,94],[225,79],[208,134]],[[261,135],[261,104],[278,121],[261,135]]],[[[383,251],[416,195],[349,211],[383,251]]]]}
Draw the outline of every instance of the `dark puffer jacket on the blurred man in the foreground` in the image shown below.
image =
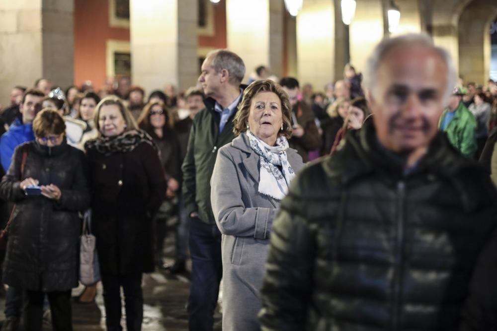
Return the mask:
{"type": "Polygon", "coordinates": [[[458,329],[497,192],[442,134],[409,174],[402,164],[369,123],[294,179],[271,233],[263,330],[458,329]]]}

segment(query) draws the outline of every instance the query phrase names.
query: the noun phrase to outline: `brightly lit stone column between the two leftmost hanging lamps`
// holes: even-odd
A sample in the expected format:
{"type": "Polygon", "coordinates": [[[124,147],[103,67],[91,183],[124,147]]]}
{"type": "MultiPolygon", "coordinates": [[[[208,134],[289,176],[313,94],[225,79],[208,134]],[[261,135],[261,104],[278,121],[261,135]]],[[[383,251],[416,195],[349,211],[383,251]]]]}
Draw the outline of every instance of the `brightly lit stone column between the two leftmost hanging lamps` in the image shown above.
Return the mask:
{"type": "Polygon", "coordinates": [[[297,16],[297,68],[301,84],[311,83],[322,90],[341,76],[341,72],[335,71],[335,52],[343,49],[335,43],[335,32],[334,1],[304,1],[297,16]]]}

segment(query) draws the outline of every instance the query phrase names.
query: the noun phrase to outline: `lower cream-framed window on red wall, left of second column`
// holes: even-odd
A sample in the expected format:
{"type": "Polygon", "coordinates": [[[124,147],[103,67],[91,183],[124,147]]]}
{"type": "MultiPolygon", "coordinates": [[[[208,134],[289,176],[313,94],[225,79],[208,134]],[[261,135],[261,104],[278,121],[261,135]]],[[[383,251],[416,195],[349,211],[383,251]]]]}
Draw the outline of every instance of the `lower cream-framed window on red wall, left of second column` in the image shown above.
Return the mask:
{"type": "Polygon", "coordinates": [[[129,41],[107,40],[106,67],[107,76],[131,76],[131,47],[129,41]]]}

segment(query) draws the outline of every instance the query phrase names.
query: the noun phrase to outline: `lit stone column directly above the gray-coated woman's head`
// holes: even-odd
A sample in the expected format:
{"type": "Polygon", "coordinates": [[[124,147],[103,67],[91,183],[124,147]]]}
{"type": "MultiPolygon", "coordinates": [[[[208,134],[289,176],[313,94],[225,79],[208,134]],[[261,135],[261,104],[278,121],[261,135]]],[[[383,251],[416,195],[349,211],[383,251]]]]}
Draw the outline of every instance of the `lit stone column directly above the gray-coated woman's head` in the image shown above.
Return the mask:
{"type": "Polygon", "coordinates": [[[246,66],[245,81],[255,67],[268,66],[281,77],[283,72],[283,1],[226,0],[228,49],[246,66]]]}

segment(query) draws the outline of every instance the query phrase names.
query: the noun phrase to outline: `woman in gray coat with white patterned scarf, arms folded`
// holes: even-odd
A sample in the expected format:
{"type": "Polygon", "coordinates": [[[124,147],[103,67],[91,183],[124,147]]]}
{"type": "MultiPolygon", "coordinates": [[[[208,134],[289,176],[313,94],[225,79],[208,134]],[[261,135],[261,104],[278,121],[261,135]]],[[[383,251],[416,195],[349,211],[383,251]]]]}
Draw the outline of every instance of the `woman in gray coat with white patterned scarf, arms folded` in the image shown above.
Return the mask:
{"type": "Polygon", "coordinates": [[[273,220],[304,164],[288,148],[288,96],[270,80],[244,91],[235,135],[219,150],[211,180],[212,210],[222,237],[223,330],[260,330],[259,289],[273,220]]]}

